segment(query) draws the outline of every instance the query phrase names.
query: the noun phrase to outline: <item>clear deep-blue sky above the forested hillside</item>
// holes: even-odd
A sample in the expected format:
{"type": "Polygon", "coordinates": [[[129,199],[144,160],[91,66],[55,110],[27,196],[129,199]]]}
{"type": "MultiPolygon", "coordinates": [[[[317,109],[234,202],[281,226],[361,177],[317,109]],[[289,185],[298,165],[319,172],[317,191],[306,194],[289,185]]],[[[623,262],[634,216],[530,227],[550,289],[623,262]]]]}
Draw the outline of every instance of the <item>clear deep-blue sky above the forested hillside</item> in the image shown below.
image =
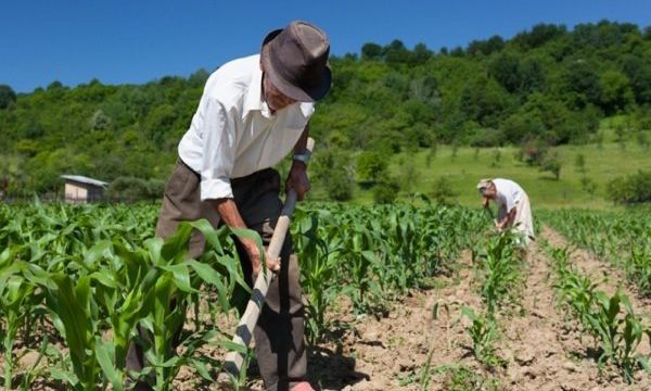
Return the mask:
{"type": "Polygon", "coordinates": [[[269,30],[295,18],[322,27],[342,55],[396,38],[408,48],[465,47],[537,23],[571,28],[609,18],[647,27],[651,0],[2,0],[0,84],[29,92],[54,80],[188,76],[257,52],[269,30]]]}

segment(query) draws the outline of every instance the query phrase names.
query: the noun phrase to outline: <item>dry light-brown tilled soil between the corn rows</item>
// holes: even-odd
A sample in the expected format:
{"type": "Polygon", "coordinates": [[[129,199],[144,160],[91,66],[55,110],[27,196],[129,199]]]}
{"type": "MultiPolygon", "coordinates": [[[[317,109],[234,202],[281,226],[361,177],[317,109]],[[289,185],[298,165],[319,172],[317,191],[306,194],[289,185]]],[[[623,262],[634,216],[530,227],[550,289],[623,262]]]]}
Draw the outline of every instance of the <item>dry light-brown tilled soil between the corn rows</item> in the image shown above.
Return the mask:
{"type": "MultiPolygon", "coordinates": [[[[567,245],[548,227],[540,238],[554,247],[567,245]]],[[[618,270],[583,250],[573,250],[571,260],[600,281],[605,292],[612,294],[620,286],[649,324],[651,303],[622,283],[618,270]]],[[[481,313],[485,304],[477,293],[481,281],[473,275],[471,255],[463,252],[456,270],[439,277],[435,289],[410,292],[394,303],[386,317],[356,316],[345,298],[335,303],[329,319],[339,327],[333,327],[329,341],[310,350],[309,380],[323,391],[458,390],[459,384],[464,390],[651,390],[650,376],[642,370],[636,373],[636,383],[627,384],[616,368],[599,369],[597,344],[582,336],[576,321],[559,306],[550,265],[542,248],[532,243],[520,300],[500,308],[497,317],[496,354],[503,365],[482,365],[470,349],[470,321],[461,317],[461,308],[470,306],[481,313]]],[[[650,345],[644,340],[638,352],[650,354],[650,345]]],[[[215,358],[224,354],[219,349],[203,353],[215,358]]],[[[244,389],[264,390],[255,365],[250,373],[244,389]]],[[[36,389],[52,388],[39,384],[36,389]]],[[[225,383],[202,383],[188,368],[175,381],[175,390],[227,389],[225,383]]]]}

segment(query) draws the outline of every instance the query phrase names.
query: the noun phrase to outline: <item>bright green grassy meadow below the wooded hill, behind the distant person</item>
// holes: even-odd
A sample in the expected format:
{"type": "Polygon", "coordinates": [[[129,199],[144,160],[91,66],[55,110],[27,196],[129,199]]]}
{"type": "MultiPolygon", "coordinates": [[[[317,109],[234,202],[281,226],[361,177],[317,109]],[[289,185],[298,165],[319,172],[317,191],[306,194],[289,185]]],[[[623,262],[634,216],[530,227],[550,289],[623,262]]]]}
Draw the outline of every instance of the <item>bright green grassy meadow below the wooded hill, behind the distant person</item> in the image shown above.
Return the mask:
{"type": "MultiPolygon", "coordinates": [[[[441,146],[436,155],[427,165],[429,151],[400,153],[391,159],[390,172],[398,178],[406,178],[409,166],[416,175],[409,182],[411,189],[403,187],[400,197],[408,192],[431,193],[434,182],[442,176],[449,179],[452,189],[458,192],[456,201],[462,205],[478,205],[480,195],[475,185],[481,178],[501,177],[515,180],[528,193],[533,207],[589,207],[604,209],[613,204],[605,198],[605,185],[618,176],[636,173],[638,169],[651,169],[650,151],[628,141],[624,144],[605,142],[585,146],[562,146],[557,148],[562,161],[560,179],[538,167],[527,166],[516,160],[518,148],[459,147],[452,157],[454,148],[441,146]],[[494,156],[499,150],[500,159],[494,165],[494,156]],[[586,175],[597,185],[595,193],[582,188],[583,176],[575,166],[577,154],[586,162],[586,175]]],[[[360,203],[373,201],[372,190],[356,188],[354,200],[360,203]]]]}

